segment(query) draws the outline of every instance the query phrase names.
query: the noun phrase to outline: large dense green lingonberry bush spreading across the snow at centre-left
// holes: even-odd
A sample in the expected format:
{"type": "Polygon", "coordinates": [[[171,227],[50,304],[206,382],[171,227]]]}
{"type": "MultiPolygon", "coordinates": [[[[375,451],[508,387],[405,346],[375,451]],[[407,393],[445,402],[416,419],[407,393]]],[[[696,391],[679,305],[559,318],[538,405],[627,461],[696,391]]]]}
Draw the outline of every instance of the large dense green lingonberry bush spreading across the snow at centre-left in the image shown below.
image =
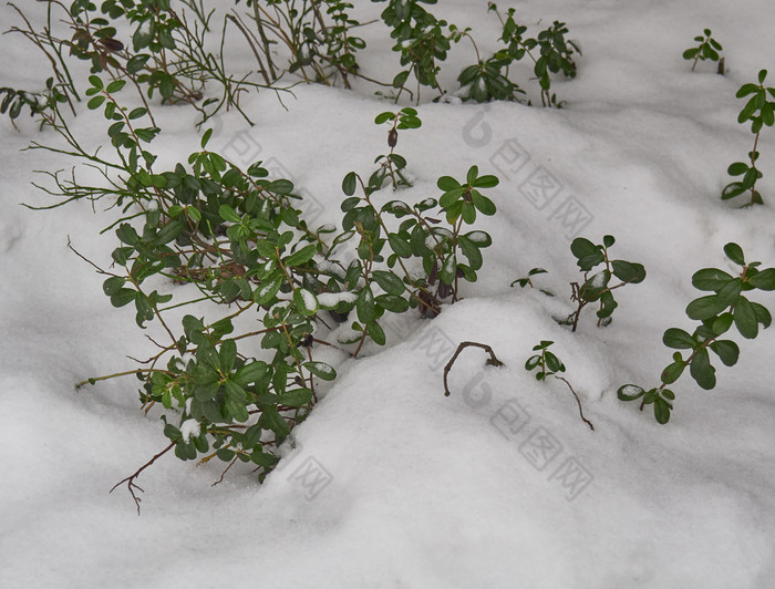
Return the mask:
{"type": "MultiPolygon", "coordinates": [[[[443,302],[459,298],[461,280],[476,280],[492,239],[464,228],[477,214],[495,213],[482,190],[498,184],[476,166],[464,180],[440,178],[438,199],[391,200],[379,209],[372,196],[383,189],[390,165],[368,183],[349,173],[342,231],[331,236],[334,228],[303,220],[291,182],[269,177],[261,162],[242,168],[209,151],[210,130],[186,161],[159,169],[152,144],[162,130],[145,107],[122,105],[127,81],[92,74],[89,84],[87,107],[102,113],[112,155],[84,151],[55,105],[42,116],[69,147],[33,147],[102,172],[104,183],[91,186],[75,174],[50,174],[54,186],[48,190],[58,204],[114,202],[121,216],[110,227],[118,241],[113,265],[93,266],[114,307],[132,306],[140,328],[157,323],[166,338],[153,340],[158,349],[141,368],[81,383],[135,375],[142,407],[163,410],[168,445],[122,482],[138,506],[137,476],[168,452],[199,463],[226,461],[227,469],[252,464],[262,478],[279,458],[278,446],[318,401],[320,383],[337,375],[321,350],[356,358],[366,341],[386,342],[386,313],[418,308],[435,317],[443,302]],[[174,322],[169,311],[186,306],[192,312],[174,322]],[[249,314],[260,328],[240,331],[238,318],[249,314]],[[333,342],[326,339],[331,319],[350,323],[333,342]]],[[[413,110],[376,121],[390,123],[391,149],[399,130],[421,126],[413,110]]],[[[392,152],[383,159],[399,167],[395,174],[405,166],[392,152]]]]}

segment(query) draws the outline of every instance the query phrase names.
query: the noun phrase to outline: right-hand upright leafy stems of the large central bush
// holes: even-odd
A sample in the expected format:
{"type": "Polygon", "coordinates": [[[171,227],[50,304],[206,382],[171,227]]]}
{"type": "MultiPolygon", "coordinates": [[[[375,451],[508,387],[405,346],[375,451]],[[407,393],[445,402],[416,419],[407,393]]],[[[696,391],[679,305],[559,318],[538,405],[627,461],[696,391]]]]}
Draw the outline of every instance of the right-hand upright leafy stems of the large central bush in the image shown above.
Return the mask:
{"type": "MultiPolygon", "coordinates": [[[[358,183],[355,173],[348,174],[342,183],[342,190],[348,196],[341,205],[344,232],[334,239],[333,246],[358,236],[359,259],[350,264],[343,286],[352,290],[361,277],[363,287],[356,293],[354,303],[342,302],[335,311],[347,313],[354,304],[360,322],[352,326],[353,332],[362,331],[362,323],[365,322],[372,339],[384,343],[381,328],[370,327],[370,322],[384,311],[403,312],[418,307],[423,316],[435,317],[441,312],[445,299],[452,297],[453,302],[457,300],[461,278],[472,282],[476,280],[476,272],[483,264],[480,250],[492,244],[492,238],[479,230],[464,234],[462,228],[463,224],[475,223],[477,210],[484,215],[495,213],[493,202],[478,189],[494,187],[498,180],[495,176],[479,176],[478,168],[472,166],[465,183],[451,176],[438,179],[438,187],[444,190],[438,200],[426,198],[413,206],[403,200],[391,200],[379,210],[371,202],[371,195],[378,188],[371,184],[361,185],[362,196],[353,196],[358,183]],[[428,214],[433,209],[446,217],[450,228],[441,226],[437,215],[428,214]],[[396,229],[388,227],[388,217],[400,220],[396,229]],[[383,254],[385,246],[388,252],[383,254]],[[424,276],[410,272],[406,265],[412,259],[422,261],[424,276]],[[375,265],[382,262],[386,264],[388,270],[376,269],[375,265]],[[374,296],[372,282],[385,291],[382,298],[374,296]],[[372,331],[378,332],[379,339],[372,331]]],[[[335,280],[337,277],[331,278],[335,280]]]]}

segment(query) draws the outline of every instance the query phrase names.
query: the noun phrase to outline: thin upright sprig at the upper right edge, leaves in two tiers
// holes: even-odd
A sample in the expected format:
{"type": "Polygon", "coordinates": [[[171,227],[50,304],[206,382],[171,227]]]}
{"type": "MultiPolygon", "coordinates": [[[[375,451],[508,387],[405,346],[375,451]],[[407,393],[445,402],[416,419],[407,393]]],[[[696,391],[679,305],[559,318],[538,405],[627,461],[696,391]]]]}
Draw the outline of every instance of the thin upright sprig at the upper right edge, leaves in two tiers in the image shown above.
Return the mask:
{"type": "Polygon", "coordinates": [[[769,99],[775,99],[775,89],[764,85],[766,76],[767,71],[762,70],[758,72],[758,84],[743,84],[737,91],[736,96],[738,99],[751,96],[740,112],[737,122],[741,124],[747,123],[748,121],[751,122],[751,132],[754,134],[754,147],[748,152],[747,162],[735,162],[728,167],[727,173],[730,176],[743,177],[724,187],[721,195],[723,200],[734,198],[747,192],[751,194],[750,205],[763,204],[762,195],[756,189],[756,182],[763,175],[756,167],[756,161],[760,156],[756,147],[763,127],[771,127],[775,124],[775,100],[768,100],[767,97],[767,95],[769,95],[769,99]]]}

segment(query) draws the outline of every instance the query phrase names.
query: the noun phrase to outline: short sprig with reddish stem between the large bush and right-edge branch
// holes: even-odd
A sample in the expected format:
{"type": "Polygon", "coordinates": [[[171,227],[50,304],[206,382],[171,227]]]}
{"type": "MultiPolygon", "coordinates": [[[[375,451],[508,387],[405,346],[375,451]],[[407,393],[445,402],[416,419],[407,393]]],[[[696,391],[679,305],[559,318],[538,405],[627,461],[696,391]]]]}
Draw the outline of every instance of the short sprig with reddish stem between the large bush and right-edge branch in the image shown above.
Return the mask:
{"type": "Polygon", "coordinates": [[[578,237],[570,244],[570,251],[577,258],[576,264],[583,272],[581,285],[571,282],[571,300],[578,304],[578,308],[565,320],[565,323],[572,326],[574,331],[578,327],[581,310],[592,302],[600,303],[597,311],[598,326],[608,326],[613,311],[619,306],[613,298],[613,290],[626,285],[637,285],[645,279],[645,268],[641,264],[610,259],[608,248],[614,242],[614,237],[607,235],[603,236],[602,245],[596,245],[583,237],[578,237]],[[593,268],[601,265],[601,269],[589,276],[593,268]],[[619,279],[620,282],[612,283],[613,278],[619,279]]]}

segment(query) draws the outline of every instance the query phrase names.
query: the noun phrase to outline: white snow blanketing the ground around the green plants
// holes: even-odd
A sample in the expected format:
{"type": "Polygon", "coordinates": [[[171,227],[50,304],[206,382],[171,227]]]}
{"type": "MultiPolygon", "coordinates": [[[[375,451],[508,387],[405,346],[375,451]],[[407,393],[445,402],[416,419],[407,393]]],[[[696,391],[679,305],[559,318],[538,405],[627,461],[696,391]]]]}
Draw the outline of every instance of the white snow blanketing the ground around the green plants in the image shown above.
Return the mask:
{"type": "MultiPolygon", "coordinates": [[[[358,4],[365,17],[384,7],[358,4]]],[[[492,52],[497,20],[486,4],[442,0],[431,9],[472,27],[492,52]]],[[[74,389],[134,368],[126,355],[148,355],[152,345],[68,249],[70,239],[107,264],[114,237],[97,234],[114,213],[85,203],[20,207],[51,204],[30,185],[34,169],[70,164],[21,153],[51,133],[28,121],[19,133],[2,117],[0,587],[775,587],[775,329],[738,338],[740,363],[720,368],[713,391],[683,376],[668,425],[616,396],[628,382],[659,383],[671,353],[662,332],[691,329],[691,276],[731,268],[725,242],[775,266],[775,131],[765,128],[758,146],[765,206],[719,198],[726,166],[752,144],[736,123],[735,92],[763,68],[775,83],[775,7],[515,6],[527,23],[567,22],[580,44],[578,78],[556,84],[567,107],[422,104],[422,128],[399,143],[415,180],[404,199],[437,197],[440,176],[461,177],[472,164],[500,178],[490,192],[498,213],[477,219],[494,245],[465,300],[433,321],[396,318],[388,347],[338,360],[340,376],[262,486],[235,466],[211,487],[221,465],[165,456],[138,479],[142,517],[123,488],[107,490],[166,445],[162,422],[138,411],[132,379],[74,389]],[[709,63],[691,73],[681,59],[703,28],[724,45],[725,76],[709,63]],[[539,177],[552,188],[537,190],[539,177]],[[570,240],[606,234],[648,277],[618,291],[610,327],[596,328],[589,311],[571,333],[552,320],[571,310],[570,240]],[[549,270],[536,281],[555,299],[509,288],[533,267],[549,270]],[[443,365],[463,340],[488,343],[506,366],[484,368],[484,353],[467,350],[445,397],[443,365]],[[562,383],[525,371],[539,340],[556,342],[595,432],[562,383]]],[[[13,18],[0,8],[3,28],[13,18]]],[[[396,60],[378,39],[386,30],[369,30],[362,63],[388,79],[396,60]]],[[[0,38],[0,86],[34,87],[48,76],[20,38],[0,38]]],[[[456,46],[443,82],[454,87],[472,60],[469,46],[456,46]]],[[[373,118],[392,105],[368,85],[293,92],[287,111],[270,92],[246,99],[256,127],[224,116],[209,147],[237,163],[272,161],[313,195],[317,221],[335,223],[341,179],[371,172],[384,147],[373,118]]],[[[81,114],[75,132],[101,140],[99,118],[81,114]]],[[[166,110],[154,147],[184,159],[198,146],[194,121],[186,108],[166,110]]],[[[773,294],[755,299],[775,308],[773,294]]]]}

